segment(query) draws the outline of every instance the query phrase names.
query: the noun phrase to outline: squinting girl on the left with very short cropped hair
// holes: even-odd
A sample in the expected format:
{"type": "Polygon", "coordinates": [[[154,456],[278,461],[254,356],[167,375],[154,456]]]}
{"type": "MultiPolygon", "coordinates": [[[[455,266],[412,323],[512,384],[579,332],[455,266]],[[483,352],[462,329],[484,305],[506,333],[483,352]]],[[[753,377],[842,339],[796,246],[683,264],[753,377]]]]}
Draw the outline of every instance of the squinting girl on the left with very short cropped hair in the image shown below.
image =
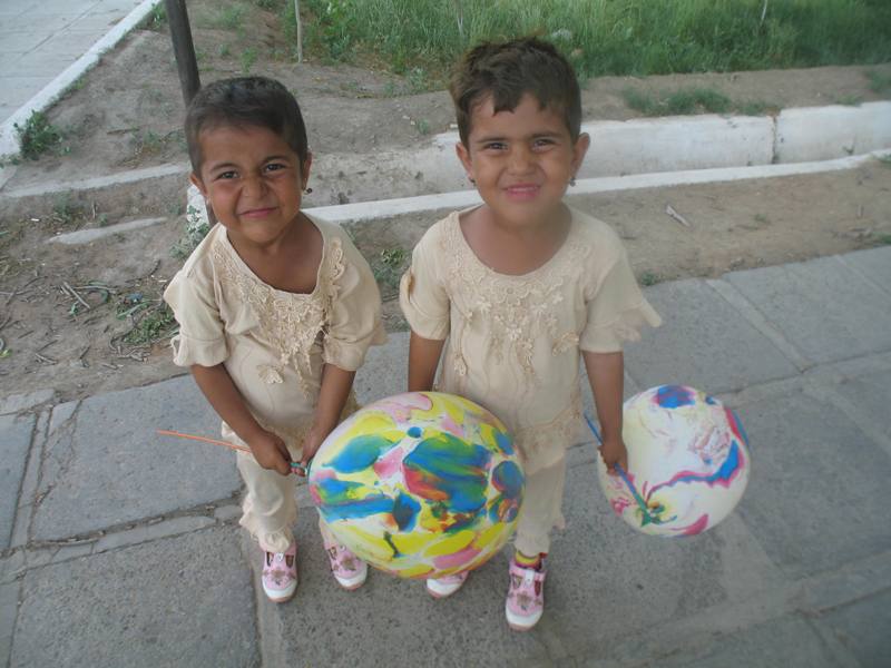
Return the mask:
{"type": "MultiPolygon", "coordinates": [[[[352,383],[384,338],[371,271],[334,225],[300,210],[312,155],[294,97],[261,77],[216,81],[186,115],[192,183],[217,220],[164,293],[174,361],[223,419],[247,487],[241,523],[263,550],[263,590],[297,587],[294,471],[354,410],[352,383]]],[[[337,582],[366,567],[320,524],[337,582]]]]}

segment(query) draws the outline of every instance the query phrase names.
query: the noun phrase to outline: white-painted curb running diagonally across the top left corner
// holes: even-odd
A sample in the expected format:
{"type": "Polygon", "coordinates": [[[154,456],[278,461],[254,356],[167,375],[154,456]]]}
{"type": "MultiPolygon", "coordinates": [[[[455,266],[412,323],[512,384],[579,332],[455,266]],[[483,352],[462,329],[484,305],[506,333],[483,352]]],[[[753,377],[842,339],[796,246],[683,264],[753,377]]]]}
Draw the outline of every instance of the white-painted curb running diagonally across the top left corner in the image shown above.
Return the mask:
{"type": "Polygon", "coordinates": [[[144,2],[109,30],[105,37],[92,45],[84,56],[75,60],[62,73],[47,84],[40,92],[3,121],[3,124],[0,125],[0,158],[8,158],[19,153],[20,143],[18,132],[16,132],[16,124],[25,124],[32,111],[42,111],[59,99],[71,84],[77,81],[84,72],[95,66],[102,53],[124,39],[124,37],[145,19],[159,2],[160,0],[144,0],[144,2]]]}

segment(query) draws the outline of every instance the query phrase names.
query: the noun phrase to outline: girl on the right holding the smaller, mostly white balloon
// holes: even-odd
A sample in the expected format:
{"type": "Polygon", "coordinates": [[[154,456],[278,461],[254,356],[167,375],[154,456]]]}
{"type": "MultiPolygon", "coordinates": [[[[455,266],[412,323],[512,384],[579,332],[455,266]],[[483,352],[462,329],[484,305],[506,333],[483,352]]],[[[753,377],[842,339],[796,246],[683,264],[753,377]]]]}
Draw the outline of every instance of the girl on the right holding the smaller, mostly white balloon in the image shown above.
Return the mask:
{"type": "MultiPolygon", "coordinates": [[[[433,225],[412,255],[400,301],[411,325],[409,390],[481,403],[513,432],[527,474],[506,615],[518,630],[544,610],[549,533],[561,527],[566,450],[578,442],[579,356],[615,472],[621,441],[624,340],[659,317],[640,294],[618,236],[562,203],[589,138],[579,88],[548,43],[482,45],[451,86],[458,157],[482,206],[433,225]]],[[[467,573],[428,580],[449,596],[467,573]]]]}

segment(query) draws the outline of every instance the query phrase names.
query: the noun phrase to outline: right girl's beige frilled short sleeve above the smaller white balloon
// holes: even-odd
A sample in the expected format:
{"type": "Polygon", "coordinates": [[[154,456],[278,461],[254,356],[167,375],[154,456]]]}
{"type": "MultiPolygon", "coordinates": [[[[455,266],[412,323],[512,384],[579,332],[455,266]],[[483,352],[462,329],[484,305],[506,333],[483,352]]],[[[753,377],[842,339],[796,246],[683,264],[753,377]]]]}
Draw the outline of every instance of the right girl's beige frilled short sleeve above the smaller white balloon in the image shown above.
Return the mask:
{"type": "Polygon", "coordinates": [[[579,347],[590,353],[617,353],[623,342],[639,340],[644,326],[662,324],[644,298],[624,249],[587,298],[587,311],[579,347]]]}

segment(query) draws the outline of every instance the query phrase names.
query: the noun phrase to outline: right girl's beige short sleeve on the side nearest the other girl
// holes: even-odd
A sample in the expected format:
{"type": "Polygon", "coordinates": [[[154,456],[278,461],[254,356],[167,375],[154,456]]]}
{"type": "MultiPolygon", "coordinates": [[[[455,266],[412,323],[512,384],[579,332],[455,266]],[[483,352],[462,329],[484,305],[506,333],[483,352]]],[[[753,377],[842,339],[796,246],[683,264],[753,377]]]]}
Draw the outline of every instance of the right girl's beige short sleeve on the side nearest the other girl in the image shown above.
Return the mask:
{"type": "Polygon", "coordinates": [[[411,266],[399,285],[399,305],[412,332],[423,338],[444,341],[449,335],[449,295],[439,279],[431,228],[412,252],[411,266]]]}

